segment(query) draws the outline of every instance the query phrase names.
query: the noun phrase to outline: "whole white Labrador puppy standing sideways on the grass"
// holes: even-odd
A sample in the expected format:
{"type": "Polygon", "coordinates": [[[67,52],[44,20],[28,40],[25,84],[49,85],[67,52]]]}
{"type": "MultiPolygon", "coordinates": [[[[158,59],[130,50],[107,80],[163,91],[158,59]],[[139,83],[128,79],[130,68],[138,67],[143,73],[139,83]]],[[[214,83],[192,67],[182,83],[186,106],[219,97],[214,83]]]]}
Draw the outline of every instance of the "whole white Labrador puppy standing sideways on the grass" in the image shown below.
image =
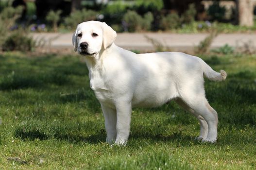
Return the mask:
{"type": "Polygon", "coordinates": [[[136,54],[114,44],[116,32],[106,23],[79,24],[72,37],[74,51],[85,56],[90,87],[102,106],[106,142],[126,144],[133,107],[157,107],[171,100],[200,122],[197,139],[217,140],[217,112],[205,98],[204,77],[223,81],[226,72],[181,52],[136,54]]]}

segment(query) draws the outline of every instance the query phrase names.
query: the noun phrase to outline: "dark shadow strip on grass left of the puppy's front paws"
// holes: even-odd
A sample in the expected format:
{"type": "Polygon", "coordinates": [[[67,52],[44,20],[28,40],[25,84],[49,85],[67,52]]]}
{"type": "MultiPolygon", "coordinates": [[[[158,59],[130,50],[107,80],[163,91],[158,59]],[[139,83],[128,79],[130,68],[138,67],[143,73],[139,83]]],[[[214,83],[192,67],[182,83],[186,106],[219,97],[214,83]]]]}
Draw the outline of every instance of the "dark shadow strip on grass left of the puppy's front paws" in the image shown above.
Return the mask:
{"type": "MultiPolygon", "coordinates": [[[[70,122],[68,122],[70,123],[70,122]]],[[[46,123],[46,121],[31,120],[21,122],[14,131],[14,136],[21,140],[65,140],[71,143],[99,143],[105,141],[105,131],[99,129],[100,123],[46,123]],[[98,128],[97,128],[98,127],[98,128]],[[91,134],[92,135],[91,135],[91,134]],[[85,134],[89,134],[86,136],[85,134]],[[93,135],[97,134],[97,135],[93,135]]]]}

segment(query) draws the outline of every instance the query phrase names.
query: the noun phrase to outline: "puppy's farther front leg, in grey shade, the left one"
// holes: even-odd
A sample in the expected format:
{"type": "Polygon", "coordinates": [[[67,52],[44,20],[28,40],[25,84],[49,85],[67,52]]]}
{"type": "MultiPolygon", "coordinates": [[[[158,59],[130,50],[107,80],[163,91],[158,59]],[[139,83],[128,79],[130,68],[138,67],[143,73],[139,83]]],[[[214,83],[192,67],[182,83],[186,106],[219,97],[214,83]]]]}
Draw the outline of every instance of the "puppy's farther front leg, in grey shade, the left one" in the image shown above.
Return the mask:
{"type": "Polygon", "coordinates": [[[115,142],[117,136],[117,111],[104,105],[103,103],[101,103],[101,105],[105,118],[105,129],[107,132],[106,142],[112,144],[115,142]]]}

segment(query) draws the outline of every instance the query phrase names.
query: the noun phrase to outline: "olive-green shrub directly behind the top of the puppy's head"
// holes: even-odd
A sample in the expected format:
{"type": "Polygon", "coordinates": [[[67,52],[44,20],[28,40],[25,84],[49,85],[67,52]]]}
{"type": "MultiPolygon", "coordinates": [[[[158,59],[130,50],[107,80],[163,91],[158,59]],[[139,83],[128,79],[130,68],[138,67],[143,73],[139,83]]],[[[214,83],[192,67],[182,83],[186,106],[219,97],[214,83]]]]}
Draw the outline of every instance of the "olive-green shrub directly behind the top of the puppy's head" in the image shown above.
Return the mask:
{"type": "Polygon", "coordinates": [[[64,24],[68,29],[75,29],[78,23],[88,20],[96,20],[97,12],[92,10],[83,9],[81,11],[75,11],[70,16],[64,19],[64,24]]]}

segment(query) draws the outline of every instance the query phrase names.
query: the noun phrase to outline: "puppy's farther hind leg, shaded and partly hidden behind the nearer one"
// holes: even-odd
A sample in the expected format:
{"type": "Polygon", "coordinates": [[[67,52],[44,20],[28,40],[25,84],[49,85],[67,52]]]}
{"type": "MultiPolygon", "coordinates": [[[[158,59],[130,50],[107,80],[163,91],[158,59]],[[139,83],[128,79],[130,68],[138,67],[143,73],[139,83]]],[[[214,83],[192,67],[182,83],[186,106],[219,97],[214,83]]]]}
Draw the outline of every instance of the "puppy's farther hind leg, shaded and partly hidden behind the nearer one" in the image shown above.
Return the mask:
{"type": "Polygon", "coordinates": [[[200,122],[200,135],[196,137],[197,140],[205,139],[208,134],[208,124],[205,121],[205,119],[197,114],[193,109],[191,109],[188,104],[186,104],[183,100],[180,98],[175,99],[175,102],[182,107],[183,109],[187,110],[188,112],[192,113],[200,122]]]}

